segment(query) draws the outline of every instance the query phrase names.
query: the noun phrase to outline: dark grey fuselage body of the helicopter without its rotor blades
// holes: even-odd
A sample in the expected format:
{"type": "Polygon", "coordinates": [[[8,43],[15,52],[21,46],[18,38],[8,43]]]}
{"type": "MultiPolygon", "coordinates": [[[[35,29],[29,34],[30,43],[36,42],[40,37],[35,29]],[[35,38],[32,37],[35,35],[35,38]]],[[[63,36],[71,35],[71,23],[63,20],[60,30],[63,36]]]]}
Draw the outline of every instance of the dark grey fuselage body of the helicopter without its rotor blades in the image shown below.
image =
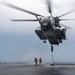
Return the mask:
{"type": "Polygon", "coordinates": [[[40,20],[40,28],[35,32],[41,40],[48,40],[51,45],[58,45],[62,40],[66,39],[65,29],[61,29],[55,25],[53,17],[47,17],[40,20]]]}

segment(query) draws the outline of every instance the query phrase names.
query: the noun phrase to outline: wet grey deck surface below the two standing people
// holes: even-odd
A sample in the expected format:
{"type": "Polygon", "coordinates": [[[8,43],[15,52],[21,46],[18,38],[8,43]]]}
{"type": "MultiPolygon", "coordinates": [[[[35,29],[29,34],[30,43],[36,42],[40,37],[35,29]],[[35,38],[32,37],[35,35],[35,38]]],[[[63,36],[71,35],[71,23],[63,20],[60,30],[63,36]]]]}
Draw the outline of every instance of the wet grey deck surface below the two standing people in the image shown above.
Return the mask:
{"type": "Polygon", "coordinates": [[[0,64],[0,75],[75,75],[75,65],[0,64]]]}

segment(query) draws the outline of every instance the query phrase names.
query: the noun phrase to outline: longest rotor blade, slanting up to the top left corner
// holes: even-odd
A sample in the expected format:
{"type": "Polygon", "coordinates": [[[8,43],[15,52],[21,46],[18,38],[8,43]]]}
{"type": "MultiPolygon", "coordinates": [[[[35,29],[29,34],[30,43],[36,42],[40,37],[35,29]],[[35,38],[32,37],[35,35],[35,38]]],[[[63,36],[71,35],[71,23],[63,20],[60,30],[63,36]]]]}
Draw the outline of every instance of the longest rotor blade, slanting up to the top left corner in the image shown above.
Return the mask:
{"type": "Polygon", "coordinates": [[[34,15],[34,16],[41,16],[41,17],[44,17],[44,16],[42,16],[42,15],[40,15],[40,14],[33,13],[33,12],[31,12],[31,11],[22,9],[22,8],[20,8],[20,7],[17,7],[17,6],[15,6],[15,5],[12,5],[12,4],[9,4],[9,3],[6,3],[6,2],[2,2],[2,4],[3,4],[3,5],[6,5],[6,6],[8,6],[8,7],[11,7],[11,8],[20,10],[20,11],[23,11],[23,12],[27,12],[27,13],[29,13],[29,14],[31,14],[31,15],[34,15]]]}

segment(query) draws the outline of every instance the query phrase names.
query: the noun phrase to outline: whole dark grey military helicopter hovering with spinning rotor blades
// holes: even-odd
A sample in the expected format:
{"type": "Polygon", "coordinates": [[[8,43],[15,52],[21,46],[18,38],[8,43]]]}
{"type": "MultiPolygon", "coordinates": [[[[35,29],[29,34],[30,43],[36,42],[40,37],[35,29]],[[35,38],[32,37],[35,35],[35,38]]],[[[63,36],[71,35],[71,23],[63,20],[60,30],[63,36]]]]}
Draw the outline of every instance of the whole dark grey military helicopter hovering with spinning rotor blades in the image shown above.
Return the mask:
{"type": "Polygon", "coordinates": [[[65,20],[75,20],[75,19],[60,19],[60,17],[65,16],[69,13],[74,12],[74,10],[69,11],[67,13],[64,13],[60,16],[56,16],[53,17],[52,16],[52,8],[51,8],[51,1],[50,0],[46,0],[47,3],[47,8],[48,8],[48,12],[50,13],[50,16],[45,17],[42,16],[40,14],[19,8],[17,6],[14,6],[12,4],[6,3],[6,2],[2,2],[2,4],[29,13],[31,15],[34,15],[36,17],[36,19],[29,19],[29,20],[24,20],[24,19],[12,19],[12,21],[38,21],[40,24],[40,27],[38,29],[35,30],[35,33],[37,34],[37,36],[43,40],[43,43],[46,43],[46,40],[49,41],[49,43],[51,44],[51,50],[53,50],[53,45],[59,45],[60,43],[62,43],[63,40],[66,40],[66,30],[67,28],[69,29],[70,27],[60,24],[60,21],[65,21],[65,20]],[[62,28],[62,26],[64,26],[65,28],[62,28]]]}

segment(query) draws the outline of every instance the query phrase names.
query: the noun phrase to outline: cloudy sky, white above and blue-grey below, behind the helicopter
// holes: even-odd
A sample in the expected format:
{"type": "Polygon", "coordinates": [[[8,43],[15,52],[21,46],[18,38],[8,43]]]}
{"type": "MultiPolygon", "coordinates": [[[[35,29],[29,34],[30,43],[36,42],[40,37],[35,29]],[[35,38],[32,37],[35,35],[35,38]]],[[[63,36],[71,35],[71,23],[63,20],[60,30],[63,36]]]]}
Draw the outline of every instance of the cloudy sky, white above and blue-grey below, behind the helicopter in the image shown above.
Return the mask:
{"type": "MultiPolygon", "coordinates": [[[[2,0],[23,9],[49,16],[45,0],[2,0]]],[[[1,2],[1,0],[0,0],[1,2]]],[[[52,0],[53,16],[75,9],[74,0],[52,0]]],[[[62,18],[74,19],[75,12],[62,18]]],[[[35,19],[35,16],[9,8],[0,3],[0,62],[33,62],[42,57],[52,62],[50,44],[43,44],[35,34],[38,22],[12,22],[10,19],[35,19]]],[[[67,40],[54,46],[54,61],[75,63],[75,21],[61,22],[72,29],[67,30],[67,40]]]]}

